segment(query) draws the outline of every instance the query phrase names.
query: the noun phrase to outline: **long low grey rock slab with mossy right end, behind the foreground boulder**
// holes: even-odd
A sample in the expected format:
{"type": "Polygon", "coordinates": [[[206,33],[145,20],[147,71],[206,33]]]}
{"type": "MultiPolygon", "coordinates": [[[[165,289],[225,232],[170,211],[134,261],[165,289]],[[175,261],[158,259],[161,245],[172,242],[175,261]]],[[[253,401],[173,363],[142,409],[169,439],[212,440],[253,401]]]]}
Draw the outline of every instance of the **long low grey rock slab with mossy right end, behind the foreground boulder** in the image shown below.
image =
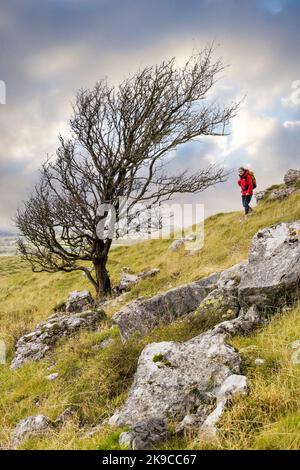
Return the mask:
{"type": "Polygon", "coordinates": [[[222,273],[215,273],[150,299],[137,299],[113,316],[122,338],[134,333],[147,334],[162,323],[171,323],[196,309],[199,314],[212,312],[220,320],[236,316],[239,311],[238,284],[247,263],[239,263],[222,273]]]}

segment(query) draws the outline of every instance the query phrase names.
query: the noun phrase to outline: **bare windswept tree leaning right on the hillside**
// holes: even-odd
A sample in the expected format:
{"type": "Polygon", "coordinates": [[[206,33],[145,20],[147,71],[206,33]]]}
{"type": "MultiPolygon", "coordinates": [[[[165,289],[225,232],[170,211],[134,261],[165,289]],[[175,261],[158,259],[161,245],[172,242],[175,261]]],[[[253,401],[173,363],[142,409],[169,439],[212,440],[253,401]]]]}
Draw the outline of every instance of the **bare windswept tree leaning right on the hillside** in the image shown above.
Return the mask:
{"type": "Polygon", "coordinates": [[[81,270],[98,296],[108,294],[113,236],[99,233],[109,213],[101,205],[113,207],[118,220],[120,198],[130,209],[141,203],[149,208],[225,181],[226,171],[214,165],[172,174],[165,158],[192,139],[227,132],[237,104],[207,98],[223,69],[209,47],[183,67],[172,59],[139,70],[117,87],[101,80],[77,93],[71,137],[60,136],[55,159],[42,166],[16,217],[23,235],[19,251],[33,271],[81,270]]]}

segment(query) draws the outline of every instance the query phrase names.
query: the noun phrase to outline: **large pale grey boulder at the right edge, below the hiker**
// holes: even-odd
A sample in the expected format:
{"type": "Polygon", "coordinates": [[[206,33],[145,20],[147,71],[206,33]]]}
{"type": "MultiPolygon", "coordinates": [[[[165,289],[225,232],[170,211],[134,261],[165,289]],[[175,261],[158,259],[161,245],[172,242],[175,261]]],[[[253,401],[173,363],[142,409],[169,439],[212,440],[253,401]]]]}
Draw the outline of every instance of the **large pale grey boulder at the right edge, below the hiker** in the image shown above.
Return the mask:
{"type": "Polygon", "coordinates": [[[249,264],[239,285],[242,307],[280,308],[299,295],[300,221],[260,230],[253,238],[249,264]]]}

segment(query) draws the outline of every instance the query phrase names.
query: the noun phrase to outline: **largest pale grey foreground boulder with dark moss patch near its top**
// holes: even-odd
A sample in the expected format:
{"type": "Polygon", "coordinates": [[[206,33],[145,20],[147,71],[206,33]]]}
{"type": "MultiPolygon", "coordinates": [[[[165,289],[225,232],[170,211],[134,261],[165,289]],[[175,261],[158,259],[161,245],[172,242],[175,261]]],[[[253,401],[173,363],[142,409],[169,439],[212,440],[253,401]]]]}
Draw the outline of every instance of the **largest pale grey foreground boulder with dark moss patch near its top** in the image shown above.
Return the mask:
{"type": "Polygon", "coordinates": [[[247,390],[246,378],[240,375],[241,357],[227,339],[249,333],[261,322],[251,307],[185,343],[149,344],[139,358],[124,407],[109,423],[129,426],[131,433],[141,421],[171,419],[178,423],[178,431],[196,423],[198,429],[214,434],[228,399],[247,390]]]}

